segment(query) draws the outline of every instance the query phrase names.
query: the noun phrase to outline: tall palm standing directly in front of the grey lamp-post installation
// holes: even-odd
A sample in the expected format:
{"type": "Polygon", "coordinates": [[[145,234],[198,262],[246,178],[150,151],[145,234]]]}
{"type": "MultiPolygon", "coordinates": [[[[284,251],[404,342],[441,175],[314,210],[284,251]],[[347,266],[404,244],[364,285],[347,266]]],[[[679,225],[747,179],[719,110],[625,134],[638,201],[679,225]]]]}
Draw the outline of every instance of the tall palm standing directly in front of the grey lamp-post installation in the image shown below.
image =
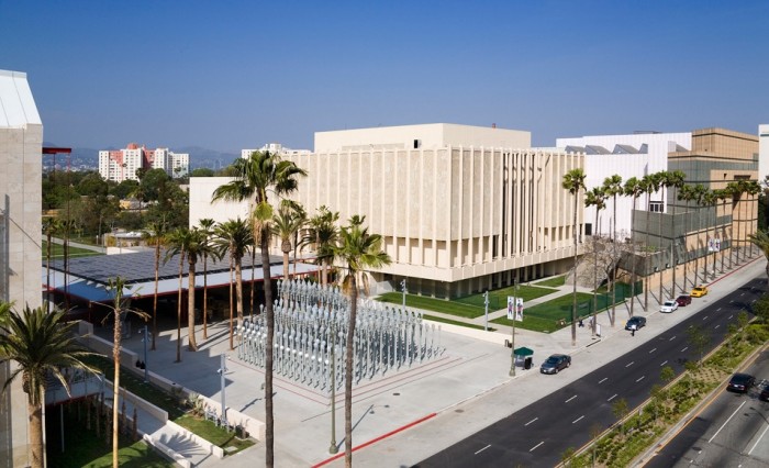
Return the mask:
{"type": "MultiPolygon", "coordinates": [[[[339,231],[339,244],[334,247],[334,254],[342,259],[347,268],[344,287],[349,291],[349,325],[345,353],[345,466],[353,466],[353,348],[355,347],[355,324],[358,312],[357,276],[365,269],[381,268],[390,264],[390,257],[382,250],[382,238],[379,234],[369,234],[360,224],[350,224],[339,231]]],[[[367,280],[364,276],[364,288],[367,280]]]]}

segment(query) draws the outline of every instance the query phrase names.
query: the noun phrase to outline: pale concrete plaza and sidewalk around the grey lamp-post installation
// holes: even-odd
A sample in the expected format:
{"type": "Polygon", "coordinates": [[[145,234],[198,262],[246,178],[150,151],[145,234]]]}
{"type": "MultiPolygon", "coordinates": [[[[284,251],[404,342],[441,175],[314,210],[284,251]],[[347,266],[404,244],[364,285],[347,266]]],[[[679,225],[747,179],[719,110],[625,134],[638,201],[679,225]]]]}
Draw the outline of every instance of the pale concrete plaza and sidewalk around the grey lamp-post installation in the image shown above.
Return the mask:
{"type": "MultiPolygon", "coordinates": [[[[516,330],[515,346],[534,350],[534,367],[516,368],[510,377],[510,328],[498,332],[442,332],[441,344],[446,353],[438,359],[425,361],[410,369],[402,368],[372,381],[363,380],[354,392],[354,446],[363,446],[353,455],[356,466],[412,466],[441,449],[453,445],[477,431],[512,414],[561,388],[579,377],[601,367],[638,344],[690,316],[704,304],[733,291],[746,281],[765,272],[765,259],[756,258],[739,268],[727,270],[711,285],[711,291],[691,305],[671,314],[658,312],[657,301],[649,297],[649,311],[636,303],[635,313],[647,316],[647,326],[632,336],[624,331],[628,307],[616,309],[616,324],[610,326],[606,313],[599,314],[602,325],[600,338],[591,336],[590,328],[579,327],[577,346],[571,345],[570,327],[545,334],[516,330]],[[505,331],[506,330],[506,331],[505,331]],[[555,376],[540,375],[538,365],[554,353],[572,356],[571,367],[555,376]],[[364,446],[365,445],[365,446],[364,446]]],[[[680,280],[680,279],[679,279],[680,280]]],[[[570,286],[564,287],[571,291],[570,286]]],[[[548,298],[540,298],[547,300],[548,298]]],[[[433,312],[431,312],[433,314],[433,312]]],[[[492,316],[503,315],[497,311],[492,316]]],[[[483,323],[484,317],[476,319],[483,323]]],[[[492,325],[499,326],[499,325],[492,325]]],[[[182,361],[176,359],[176,330],[164,332],[157,341],[157,350],[148,356],[148,368],[185,388],[221,400],[220,356],[227,354],[225,398],[229,408],[264,421],[264,371],[241,361],[229,348],[227,324],[209,327],[209,339],[202,339],[198,330],[200,350],[182,348],[182,361]]],[[[109,332],[97,334],[109,337],[109,332]]],[[[183,338],[183,333],[182,333],[183,338]]],[[[185,341],[186,343],[186,341],[185,341]]],[[[124,339],[125,348],[143,355],[141,336],[124,339]]],[[[142,421],[140,421],[140,425],[142,421]]],[[[156,424],[147,422],[147,424],[156,424]]],[[[278,467],[309,467],[344,465],[344,395],[336,397],[336,444],[342,455],[333,459],[331,445],[331,405],[327,393],[297,385],[275,376],[275,460],[278,467]]],[[[152,428],[152,427],[148,427],[152,428]]],[[[182,454],[183,455],[183,454],[182,454]]],[[[263,443],[224,459],[212,456],[191,457],[201,467],[264,466],[263,443]]]]}

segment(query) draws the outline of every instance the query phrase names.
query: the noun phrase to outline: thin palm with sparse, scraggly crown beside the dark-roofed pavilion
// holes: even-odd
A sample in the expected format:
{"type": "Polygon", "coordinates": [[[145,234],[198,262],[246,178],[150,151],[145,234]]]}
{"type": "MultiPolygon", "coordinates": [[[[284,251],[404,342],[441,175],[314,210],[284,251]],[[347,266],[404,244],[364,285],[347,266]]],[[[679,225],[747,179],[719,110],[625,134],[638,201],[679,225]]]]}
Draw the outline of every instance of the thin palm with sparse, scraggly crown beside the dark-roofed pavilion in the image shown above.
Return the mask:
{"type": "MultiPolygon", "coordinates": [[[[124,291],[131,289],[126,287],[125,280],[121,277],[109,278],[107,282],[107,290],[113,298],[112,307],[107,305],[112,313],[112,319],[114,320],[114,326],[112,328],[112,364],[114,366],[113,376],[113,389],[112,389],[112,467],[118,468],[118,452],[120,450],[120,348],[123,338],[122,324],[125,321],[125,316],[129,312],[138,314],[142,319],[147,320],[148,315],[144,312],[131,309],[131,296],[126,299],[124,297],[124,291]]],[[[108,315],[104,321],[109,319],[108,315]]]]}

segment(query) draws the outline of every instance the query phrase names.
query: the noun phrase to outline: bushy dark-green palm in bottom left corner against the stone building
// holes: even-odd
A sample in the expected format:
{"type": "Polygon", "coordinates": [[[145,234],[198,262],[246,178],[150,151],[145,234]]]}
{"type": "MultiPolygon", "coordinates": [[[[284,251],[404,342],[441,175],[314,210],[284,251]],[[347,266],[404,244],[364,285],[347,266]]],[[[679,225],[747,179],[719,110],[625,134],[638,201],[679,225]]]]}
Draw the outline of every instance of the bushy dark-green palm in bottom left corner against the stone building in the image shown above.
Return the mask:
{"type": "MultiPolygon", "coordinates": [[[[8,309],[9,305],[2,304],[0,308],[8,309]]],[[[0,325],[0,363],[16,363],[3,383],[3,391],[21,376],[30,415],[29,437],[33,468],[42,468],[45,456],[43,403],[46,378],[54,376],[69,391],[69,383],[63,374],[65,368],[94,372],[94,369],[80,360],[92,353],[77,342],[77,322],[64,322],[64,314],[59,310],[48,313],[44,308],[30,309],[27,305],[20,314],[7,315],[8,322],[0,325]]]]}

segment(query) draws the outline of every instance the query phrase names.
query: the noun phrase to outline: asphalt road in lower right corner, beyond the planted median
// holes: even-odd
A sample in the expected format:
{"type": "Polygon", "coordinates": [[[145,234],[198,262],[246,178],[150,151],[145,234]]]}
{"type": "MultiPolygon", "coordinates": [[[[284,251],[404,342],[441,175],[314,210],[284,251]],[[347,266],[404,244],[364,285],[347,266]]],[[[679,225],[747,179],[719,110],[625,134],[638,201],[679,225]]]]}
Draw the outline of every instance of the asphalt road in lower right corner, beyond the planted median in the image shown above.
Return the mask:
{"type": "MultiPolygon", "coordinates": [[[[746,372],[769,379],[769,352],[746,372]]],[[[769,403],[758,400],[758,388],[748,394],[722,391],[689,425],[646,464],[667,467],[769,466],[769,403]]]]}

